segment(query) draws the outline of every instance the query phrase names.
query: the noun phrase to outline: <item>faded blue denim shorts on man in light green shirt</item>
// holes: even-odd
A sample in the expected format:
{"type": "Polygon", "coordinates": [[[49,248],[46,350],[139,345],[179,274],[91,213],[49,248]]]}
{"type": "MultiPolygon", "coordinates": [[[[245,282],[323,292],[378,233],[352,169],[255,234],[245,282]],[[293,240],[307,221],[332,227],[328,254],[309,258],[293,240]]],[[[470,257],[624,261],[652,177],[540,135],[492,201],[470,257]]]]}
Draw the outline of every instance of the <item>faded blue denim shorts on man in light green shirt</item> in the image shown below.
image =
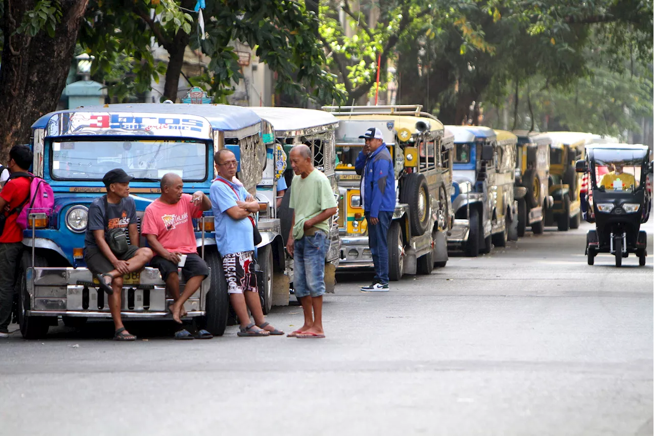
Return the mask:
{"type": "Polygon", "coordinates": [[[321,230],[295,241],[293,287],[296,297],[320,297],[325,293],[325,256],[329,244],[327,234],[321,230]]]}

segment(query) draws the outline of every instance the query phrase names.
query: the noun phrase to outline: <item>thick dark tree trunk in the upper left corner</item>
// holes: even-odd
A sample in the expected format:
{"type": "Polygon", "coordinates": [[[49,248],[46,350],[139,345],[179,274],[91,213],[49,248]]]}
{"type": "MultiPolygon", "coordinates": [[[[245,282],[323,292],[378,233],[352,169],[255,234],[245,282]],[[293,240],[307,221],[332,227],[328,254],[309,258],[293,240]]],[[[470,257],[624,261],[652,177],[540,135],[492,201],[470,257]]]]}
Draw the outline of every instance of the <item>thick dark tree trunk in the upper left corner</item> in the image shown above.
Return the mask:
{"type": "Polygon", "coordinates": [[[77,32],[88,0],[59,0],[61,22],[54,37],[41,30],[34,37],[15,33],[36,0],[4,0],[5,46],[0,68],[0,163],[9,149],[28,143],[31,124],[56,109],[73,59],[77,32]]]}

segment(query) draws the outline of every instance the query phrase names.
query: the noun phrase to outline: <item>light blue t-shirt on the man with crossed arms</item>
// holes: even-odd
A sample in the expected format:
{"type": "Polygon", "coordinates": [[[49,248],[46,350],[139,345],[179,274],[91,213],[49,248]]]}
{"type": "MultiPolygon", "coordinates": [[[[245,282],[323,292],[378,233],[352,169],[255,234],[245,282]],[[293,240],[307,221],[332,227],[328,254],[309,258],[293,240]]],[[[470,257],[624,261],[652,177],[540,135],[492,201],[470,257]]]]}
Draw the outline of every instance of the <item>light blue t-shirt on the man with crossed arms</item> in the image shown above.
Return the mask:
{"type": "Polygon", "coordinates": [[[230,253],[238,253],[239,251],[254,250],[254,234],[252,230],[252,221],[248,217],[243,219],[233,219],[226,213],[226,210],[237,206],[236,201],[245,201],[249,196],[249,192],[239,185],[218,177],[218,179],[211,184],[209,190],[209,198],[211,198],[211,209],[213,209],[213,222],[216,227],[216,245],[218,252],[224,256],[230,253]],[[224,180],[230,185],[220,181],[224,180]],[[232,188],[239,194],[236,197],[232,188]]]}

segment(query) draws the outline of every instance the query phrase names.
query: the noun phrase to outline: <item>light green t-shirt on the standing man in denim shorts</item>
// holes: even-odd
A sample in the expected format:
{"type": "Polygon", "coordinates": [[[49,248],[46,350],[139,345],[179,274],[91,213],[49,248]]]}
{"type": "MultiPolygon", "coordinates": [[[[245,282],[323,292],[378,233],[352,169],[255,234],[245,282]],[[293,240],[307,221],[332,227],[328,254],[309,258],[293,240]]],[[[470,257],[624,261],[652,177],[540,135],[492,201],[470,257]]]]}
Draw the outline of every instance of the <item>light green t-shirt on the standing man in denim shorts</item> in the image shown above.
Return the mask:
{"type": "MultiPolygon", "coordinates": [[[[298,240],[304,236],[304,222],[318,215],[325,209],[337,208],[336,198],[329,179],[318,170],[313,170],[304,179],[301,175],[293,177],[290,185],[289,208],[295,209],[295,226],[293,239],[298,240]]],[[[316,223],[314,227],[330,233],[329,221],[316,223]]]]}

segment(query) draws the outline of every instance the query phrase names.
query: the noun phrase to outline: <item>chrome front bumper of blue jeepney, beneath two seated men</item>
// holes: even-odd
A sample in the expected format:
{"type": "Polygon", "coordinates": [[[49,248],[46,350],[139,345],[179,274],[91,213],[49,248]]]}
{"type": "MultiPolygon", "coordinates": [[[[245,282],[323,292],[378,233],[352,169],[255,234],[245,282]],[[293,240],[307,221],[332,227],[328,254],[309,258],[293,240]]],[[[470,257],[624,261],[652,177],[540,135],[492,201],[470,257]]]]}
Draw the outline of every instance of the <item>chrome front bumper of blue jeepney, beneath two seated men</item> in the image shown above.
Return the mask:
{"type": "MultiPolygon", "coordinates": [[[[86,268],[28,268],[27,293],[31,310],[28,316],[84,316],[111,318],[107,294],[93,283],[86,268]]],[[[211,283],[211,271],[200,289],[184,303],[188,317],[205,315],[205,300],[211,283]]],[[[185,282],[180,274],[180,292],[185,282]]],[[[172,319],[165,283],[158,269],[141,271],[137,285],[124,285],[121,314],[124,318],[172,319]]]]}

